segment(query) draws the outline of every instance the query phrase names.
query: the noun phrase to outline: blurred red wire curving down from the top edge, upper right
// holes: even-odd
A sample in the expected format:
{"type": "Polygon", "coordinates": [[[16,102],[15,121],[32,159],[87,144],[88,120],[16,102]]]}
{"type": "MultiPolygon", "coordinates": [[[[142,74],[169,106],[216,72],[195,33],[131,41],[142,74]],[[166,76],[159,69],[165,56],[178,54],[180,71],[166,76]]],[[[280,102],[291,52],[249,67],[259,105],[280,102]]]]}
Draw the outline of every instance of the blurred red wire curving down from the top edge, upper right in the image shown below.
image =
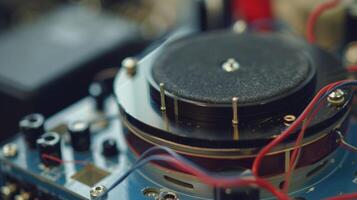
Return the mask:
{"type": "Polygon", "coordinates": [[[315,38],[315,33],[314,33],[314,28],[316,26],[316,22],[318,18],[321,16],[323,12],[326,10],[329,10],[331,8],[336,7],[341,0],[330,0],[326,1],[320,5],[318,5],[309,15],[309,18],[307,20],[307,25],[306,25],[306,38],[309,43],[314,43],[316,38],[315,38]]]}

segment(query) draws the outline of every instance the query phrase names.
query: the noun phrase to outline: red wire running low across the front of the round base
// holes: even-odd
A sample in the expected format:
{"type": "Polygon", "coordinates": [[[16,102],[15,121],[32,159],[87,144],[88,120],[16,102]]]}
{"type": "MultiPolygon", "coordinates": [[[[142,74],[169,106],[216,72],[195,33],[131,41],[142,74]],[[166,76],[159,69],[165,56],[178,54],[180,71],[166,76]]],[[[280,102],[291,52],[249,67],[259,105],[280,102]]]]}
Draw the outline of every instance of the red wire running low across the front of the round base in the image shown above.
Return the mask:
{"type": "Polygon", "coordinates": [[[275,197],[277,197],[280,200],[289,200],[289,196],[287,194],[284,194],[280,190],[276,189],[271,183],[268,181],[256,177],[256,178],[246,178],[246,179],[224,179],[224,178],[214,178],[198,169],[195,169],[189,165],[186,165],[185,163],[180,162],[179,160],[176,160],[175,158],[171,156],[165,156],[166,161],[176,165],[179,167],[181,170],[187,171],[192,175],[195,175],[200,181],[213,185],[213,186],[218,186],[218,187],[242,187],[242,186],[251,186],[251,185],[257,185],[261,188],[266,189],[267,191],[271,192],[275,197]]]}

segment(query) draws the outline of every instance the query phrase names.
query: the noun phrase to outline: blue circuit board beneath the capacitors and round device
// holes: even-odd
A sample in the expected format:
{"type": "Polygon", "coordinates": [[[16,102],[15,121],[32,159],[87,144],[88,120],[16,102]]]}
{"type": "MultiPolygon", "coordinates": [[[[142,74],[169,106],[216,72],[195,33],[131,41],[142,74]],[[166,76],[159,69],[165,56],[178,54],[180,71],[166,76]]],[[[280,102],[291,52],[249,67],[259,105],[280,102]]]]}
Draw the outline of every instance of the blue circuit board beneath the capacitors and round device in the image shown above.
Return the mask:
{"type": "MultiPolygon", "coordinates": [[[[85,98],[59,114],[47,120],[48,130],[60,130],[66,123],[75,120],[102,119],[103,115],[116,116],[117,108],[113,98],[107,100],[105,114],[98,113],[91,98],[85,98]]],[[[104,118],[103,118],[104,119],[104,118]]],[[[357,144],[357,123],[352,122],[349,141],[357,144]]],[[[4,186],[9,181],[15,181],[23,190],[33,193],[37,199],[90,199],[89,185],[74,178],[85,165],[81,163],[65,162],[60,167],[44,168],[36,150],[29,150],[21,134],[15,135],[6,141],[7,144],[15,144],[17,155],[8,157],[1,153],[1,184],[4,186]],[[30,191],[31,190],[31,191],[30,191]]],[[[62,137],[62,159],[64,161],[83,161],[91,163],[96,169],[104,171],[106,175],[96,185],[110,187],[131,166],[134,156],[128,150],[122,133],[119,119],[98,120],[92,131],[91,151],[87,153],[74,152],[65,135],[62,137]],[[101,144],[107,138],[115,138],[120,154],[113,158],[106,158],[101,153],[101,144]]],[[[357,154],[349,153],[340,148],[329,159],[328,173],[318,176],[306,183],[306,186],[291,195],[304,199],[323,199],[357,191],[357,154]]],[[[88,175],[90,176],[90,175],[88,175]]],[[[168,184],[169,185],[169,184],[168,184]]],[[[184,193],[175,187],[157,183],[146,176],[145,171],[138,170],[120,185],[114,188],[107,196],[108,200],[154,200],[155,197],[145,196],[145,188],[156,188],[175,192],[180,200],[209,199],[194,191],[184,193]]],[[[3,197],[3,199],[6,199],[3,197]]]]}

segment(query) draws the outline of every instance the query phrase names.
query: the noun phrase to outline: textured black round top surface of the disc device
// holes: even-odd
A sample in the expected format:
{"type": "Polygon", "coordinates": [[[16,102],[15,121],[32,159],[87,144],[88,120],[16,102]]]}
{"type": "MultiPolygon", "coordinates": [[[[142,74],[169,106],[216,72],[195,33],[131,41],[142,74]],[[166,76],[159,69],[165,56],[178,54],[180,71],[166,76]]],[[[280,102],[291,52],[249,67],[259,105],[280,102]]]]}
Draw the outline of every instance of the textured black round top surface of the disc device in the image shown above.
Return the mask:
{"type": "Polygon", "coordinates": [[[292,37],[216,32],[177,40],[156,60],[153,77],[167,91],[207,103],[259,104],[287,95],[313,73],[292,37]],[[240,68],[221,65],[234,58],[240,68]]]}

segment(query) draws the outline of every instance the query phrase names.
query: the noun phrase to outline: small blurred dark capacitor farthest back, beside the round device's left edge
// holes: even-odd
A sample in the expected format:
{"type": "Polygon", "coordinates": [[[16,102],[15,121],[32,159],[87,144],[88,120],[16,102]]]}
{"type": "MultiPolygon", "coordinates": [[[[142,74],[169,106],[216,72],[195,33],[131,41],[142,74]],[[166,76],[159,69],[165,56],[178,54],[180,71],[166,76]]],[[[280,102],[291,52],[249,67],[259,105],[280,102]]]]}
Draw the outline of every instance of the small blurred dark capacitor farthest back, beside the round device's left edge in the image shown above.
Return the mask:
{"type": "Polygon", "coordinates": [[[93,82],[89,86],[89,95],[94,98],[96,108],[99,111],[104,110],[104,101],[108,96],[108,88],[106,84],[102,81],[93,82]]]}

